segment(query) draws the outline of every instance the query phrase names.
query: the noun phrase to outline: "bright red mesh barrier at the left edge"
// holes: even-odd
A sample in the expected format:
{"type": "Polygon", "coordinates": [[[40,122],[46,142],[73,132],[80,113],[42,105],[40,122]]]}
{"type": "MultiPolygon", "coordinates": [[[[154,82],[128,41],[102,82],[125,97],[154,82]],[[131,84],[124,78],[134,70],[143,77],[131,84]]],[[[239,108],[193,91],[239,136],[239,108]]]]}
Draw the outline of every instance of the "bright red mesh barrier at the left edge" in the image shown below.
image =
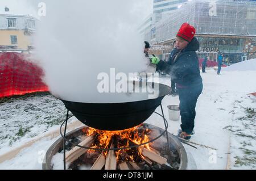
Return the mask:
{"type": "Polygon", "coordinates": [[[0,53],[0,98],[48,91],[43,70],[22,53],[0,53]]]}

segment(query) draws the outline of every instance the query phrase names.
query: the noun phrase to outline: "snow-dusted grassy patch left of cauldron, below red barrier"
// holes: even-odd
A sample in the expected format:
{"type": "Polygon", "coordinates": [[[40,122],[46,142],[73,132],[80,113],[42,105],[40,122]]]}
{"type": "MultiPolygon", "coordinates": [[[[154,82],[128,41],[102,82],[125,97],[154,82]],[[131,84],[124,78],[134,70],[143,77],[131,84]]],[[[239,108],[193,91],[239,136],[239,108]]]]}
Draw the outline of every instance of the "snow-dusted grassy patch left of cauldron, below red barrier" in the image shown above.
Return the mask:
{"type": "Polygon", "coordinates": [[[52,95],[20,96],[0,103],[0,155],[59,126],[65,106],[52,95]]]}

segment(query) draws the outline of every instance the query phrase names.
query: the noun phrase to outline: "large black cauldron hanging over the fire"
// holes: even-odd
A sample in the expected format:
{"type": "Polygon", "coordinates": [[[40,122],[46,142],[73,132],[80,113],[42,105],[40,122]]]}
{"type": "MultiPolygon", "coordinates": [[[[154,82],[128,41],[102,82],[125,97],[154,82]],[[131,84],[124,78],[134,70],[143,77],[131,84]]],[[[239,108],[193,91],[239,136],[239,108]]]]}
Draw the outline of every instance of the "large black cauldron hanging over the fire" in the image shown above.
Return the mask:
{"type": "MultiPolygon", "coordinates": [[[[89,127],[105,131],[123,130],[146,121],[160,106],[164,96],[169,94],[171,89],[169,86],[152,84],[152,87],[159,87],[158,95],[152,99],[148,97],[150,94],[148,92],[133,92],[129,94],[131,102],[119,100],[117,103],[80,103],[60,100],[78,120],[89,127]],[[138,95],[141,95],[141,98],[138,98],[138,95]]],[[[142,83],[139,86],[142,88],[142,83]]]]}

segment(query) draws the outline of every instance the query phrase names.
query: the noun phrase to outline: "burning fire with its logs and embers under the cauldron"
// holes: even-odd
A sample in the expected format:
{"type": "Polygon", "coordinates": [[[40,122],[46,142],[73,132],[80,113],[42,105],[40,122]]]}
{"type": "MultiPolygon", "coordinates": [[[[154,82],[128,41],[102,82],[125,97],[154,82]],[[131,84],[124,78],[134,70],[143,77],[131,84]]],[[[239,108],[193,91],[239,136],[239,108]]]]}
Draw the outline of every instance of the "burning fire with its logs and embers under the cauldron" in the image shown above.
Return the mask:
{"type": "Polygon", "coordinates": [[[167,142],[158,146],[155,146],[155,142],[145,144],[152,139],[154,131],[144,127],[144,124],[122,131],[83,128],[84,135],[79,140],[81,146],[127,149],[101,151],[75,146],[69,149],[66,162],[69,163],[69,169],[78,169],[80,165],[89,165],[92,170],[179,169],[179,156],[176,151],[170,151],[167,142]],[[144,145],[138,146],[141,144],[144,145]]]}

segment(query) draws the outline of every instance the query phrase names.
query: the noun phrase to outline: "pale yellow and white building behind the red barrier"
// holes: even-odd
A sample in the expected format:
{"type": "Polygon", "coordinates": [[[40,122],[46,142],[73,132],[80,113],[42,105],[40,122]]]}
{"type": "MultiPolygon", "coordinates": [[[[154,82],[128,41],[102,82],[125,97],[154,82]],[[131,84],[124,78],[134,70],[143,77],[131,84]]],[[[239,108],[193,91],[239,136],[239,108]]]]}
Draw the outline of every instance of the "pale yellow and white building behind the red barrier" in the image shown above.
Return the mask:
{"type": "Polygon", "coordinates": [[[37,21],[32,16],[0,14],[0,52],[30,50],[37,21]]]}

